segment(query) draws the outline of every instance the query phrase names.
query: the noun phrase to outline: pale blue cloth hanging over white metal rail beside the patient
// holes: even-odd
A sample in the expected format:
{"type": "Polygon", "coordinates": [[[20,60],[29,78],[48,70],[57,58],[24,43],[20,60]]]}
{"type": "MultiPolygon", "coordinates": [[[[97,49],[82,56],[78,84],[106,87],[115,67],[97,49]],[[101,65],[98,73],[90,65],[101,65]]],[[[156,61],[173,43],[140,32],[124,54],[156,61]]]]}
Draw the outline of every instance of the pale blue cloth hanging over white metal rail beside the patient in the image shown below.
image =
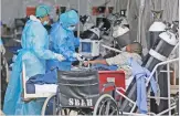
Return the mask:
{"type": "MultiPolygon", "coordinates": [[[[140,66],[137,62],[133,59],[128,60],[129,65],[131,66],[133,76],[136,77],[137,82],[137,106],[141,114],[147,114],[147,92],[146,92],[146,78],[150,76],[150,72],[140,66]]],[[[151,77],[150,86],[155,95],[158,94],[158,84],[156,83],[155,78],[151,77]]]]}

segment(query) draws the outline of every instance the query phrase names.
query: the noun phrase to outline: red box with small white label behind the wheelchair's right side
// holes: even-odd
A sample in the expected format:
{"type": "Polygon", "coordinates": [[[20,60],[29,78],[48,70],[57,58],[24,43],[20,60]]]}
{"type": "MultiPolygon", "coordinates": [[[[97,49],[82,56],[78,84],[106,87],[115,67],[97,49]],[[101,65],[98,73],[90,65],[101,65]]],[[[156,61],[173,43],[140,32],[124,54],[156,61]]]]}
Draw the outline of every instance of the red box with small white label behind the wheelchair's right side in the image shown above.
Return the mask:
{"type": "MultiPolygon", "coordinates": [[[[114,83],[116,87],[123,87],[125,89],[125,73],[123,71],[99,71],[99,89],[100,93],[109,93],[115,89],[113,86],[104,87],[107,83],[114,83]]],[[[123,91],[120,91],[124,93],[123,91]]]]}

